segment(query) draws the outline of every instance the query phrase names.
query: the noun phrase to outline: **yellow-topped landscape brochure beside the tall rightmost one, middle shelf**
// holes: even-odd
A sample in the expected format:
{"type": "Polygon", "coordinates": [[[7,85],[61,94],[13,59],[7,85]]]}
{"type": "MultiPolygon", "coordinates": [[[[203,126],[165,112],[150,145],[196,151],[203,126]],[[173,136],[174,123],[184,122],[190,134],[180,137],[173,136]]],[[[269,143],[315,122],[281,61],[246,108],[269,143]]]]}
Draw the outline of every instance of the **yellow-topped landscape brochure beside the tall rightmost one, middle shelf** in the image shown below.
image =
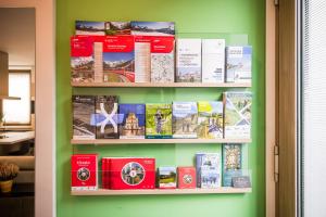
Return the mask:
{"type": "Polygon", "coordinates": [[[200,139],[223,138],[223,102],[198,102],[198,128],[200,139]]]}

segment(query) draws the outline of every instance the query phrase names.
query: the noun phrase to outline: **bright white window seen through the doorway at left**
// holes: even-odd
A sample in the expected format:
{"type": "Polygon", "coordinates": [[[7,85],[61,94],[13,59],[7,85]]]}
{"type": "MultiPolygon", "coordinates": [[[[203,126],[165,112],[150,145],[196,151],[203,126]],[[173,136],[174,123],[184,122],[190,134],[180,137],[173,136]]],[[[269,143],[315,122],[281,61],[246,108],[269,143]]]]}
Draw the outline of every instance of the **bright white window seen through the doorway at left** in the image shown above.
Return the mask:
{"type": "Polygon", "coordinates": [[[21,100],[3,100],[3,114],[7,125],[30,124],[30,72],[9,72],[9,95],[21,100]]]}

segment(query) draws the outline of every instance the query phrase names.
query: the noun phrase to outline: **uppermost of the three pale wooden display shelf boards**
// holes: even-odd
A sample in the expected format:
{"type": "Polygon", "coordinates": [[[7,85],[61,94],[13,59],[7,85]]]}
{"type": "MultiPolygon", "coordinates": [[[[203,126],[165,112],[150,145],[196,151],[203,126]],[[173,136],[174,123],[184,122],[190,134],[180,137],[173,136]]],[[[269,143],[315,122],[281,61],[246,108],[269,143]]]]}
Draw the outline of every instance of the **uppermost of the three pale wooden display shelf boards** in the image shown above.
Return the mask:
{"type": "Polygon", "coordinates": [[[250,88],[251,84],[244,82],[71,82],[78,88],[250,88]]]}

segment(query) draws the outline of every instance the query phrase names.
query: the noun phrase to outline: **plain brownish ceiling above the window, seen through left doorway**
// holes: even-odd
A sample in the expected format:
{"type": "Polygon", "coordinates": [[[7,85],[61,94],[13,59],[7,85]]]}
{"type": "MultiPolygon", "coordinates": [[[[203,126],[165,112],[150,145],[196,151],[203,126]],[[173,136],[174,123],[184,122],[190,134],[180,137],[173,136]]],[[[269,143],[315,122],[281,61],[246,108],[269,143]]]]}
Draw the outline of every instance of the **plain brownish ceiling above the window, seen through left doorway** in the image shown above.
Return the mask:
{"type": "Polygon", "coordinates": [[[35,9],[0,8],[0,51],[10,66],[35,65],[35,9]]]}

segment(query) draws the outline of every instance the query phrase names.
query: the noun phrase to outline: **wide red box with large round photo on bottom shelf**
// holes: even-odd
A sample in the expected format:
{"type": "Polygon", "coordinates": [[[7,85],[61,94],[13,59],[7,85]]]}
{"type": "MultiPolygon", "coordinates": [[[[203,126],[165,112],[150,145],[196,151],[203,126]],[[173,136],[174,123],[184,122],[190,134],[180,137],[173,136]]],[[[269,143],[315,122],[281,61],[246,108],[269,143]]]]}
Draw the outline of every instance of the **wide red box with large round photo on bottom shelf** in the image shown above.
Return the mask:
{"type": "Polygon", "coordinates": [[[110,188],[154,189],[155,159],[137,157],[110,158],[110,188]]]}

